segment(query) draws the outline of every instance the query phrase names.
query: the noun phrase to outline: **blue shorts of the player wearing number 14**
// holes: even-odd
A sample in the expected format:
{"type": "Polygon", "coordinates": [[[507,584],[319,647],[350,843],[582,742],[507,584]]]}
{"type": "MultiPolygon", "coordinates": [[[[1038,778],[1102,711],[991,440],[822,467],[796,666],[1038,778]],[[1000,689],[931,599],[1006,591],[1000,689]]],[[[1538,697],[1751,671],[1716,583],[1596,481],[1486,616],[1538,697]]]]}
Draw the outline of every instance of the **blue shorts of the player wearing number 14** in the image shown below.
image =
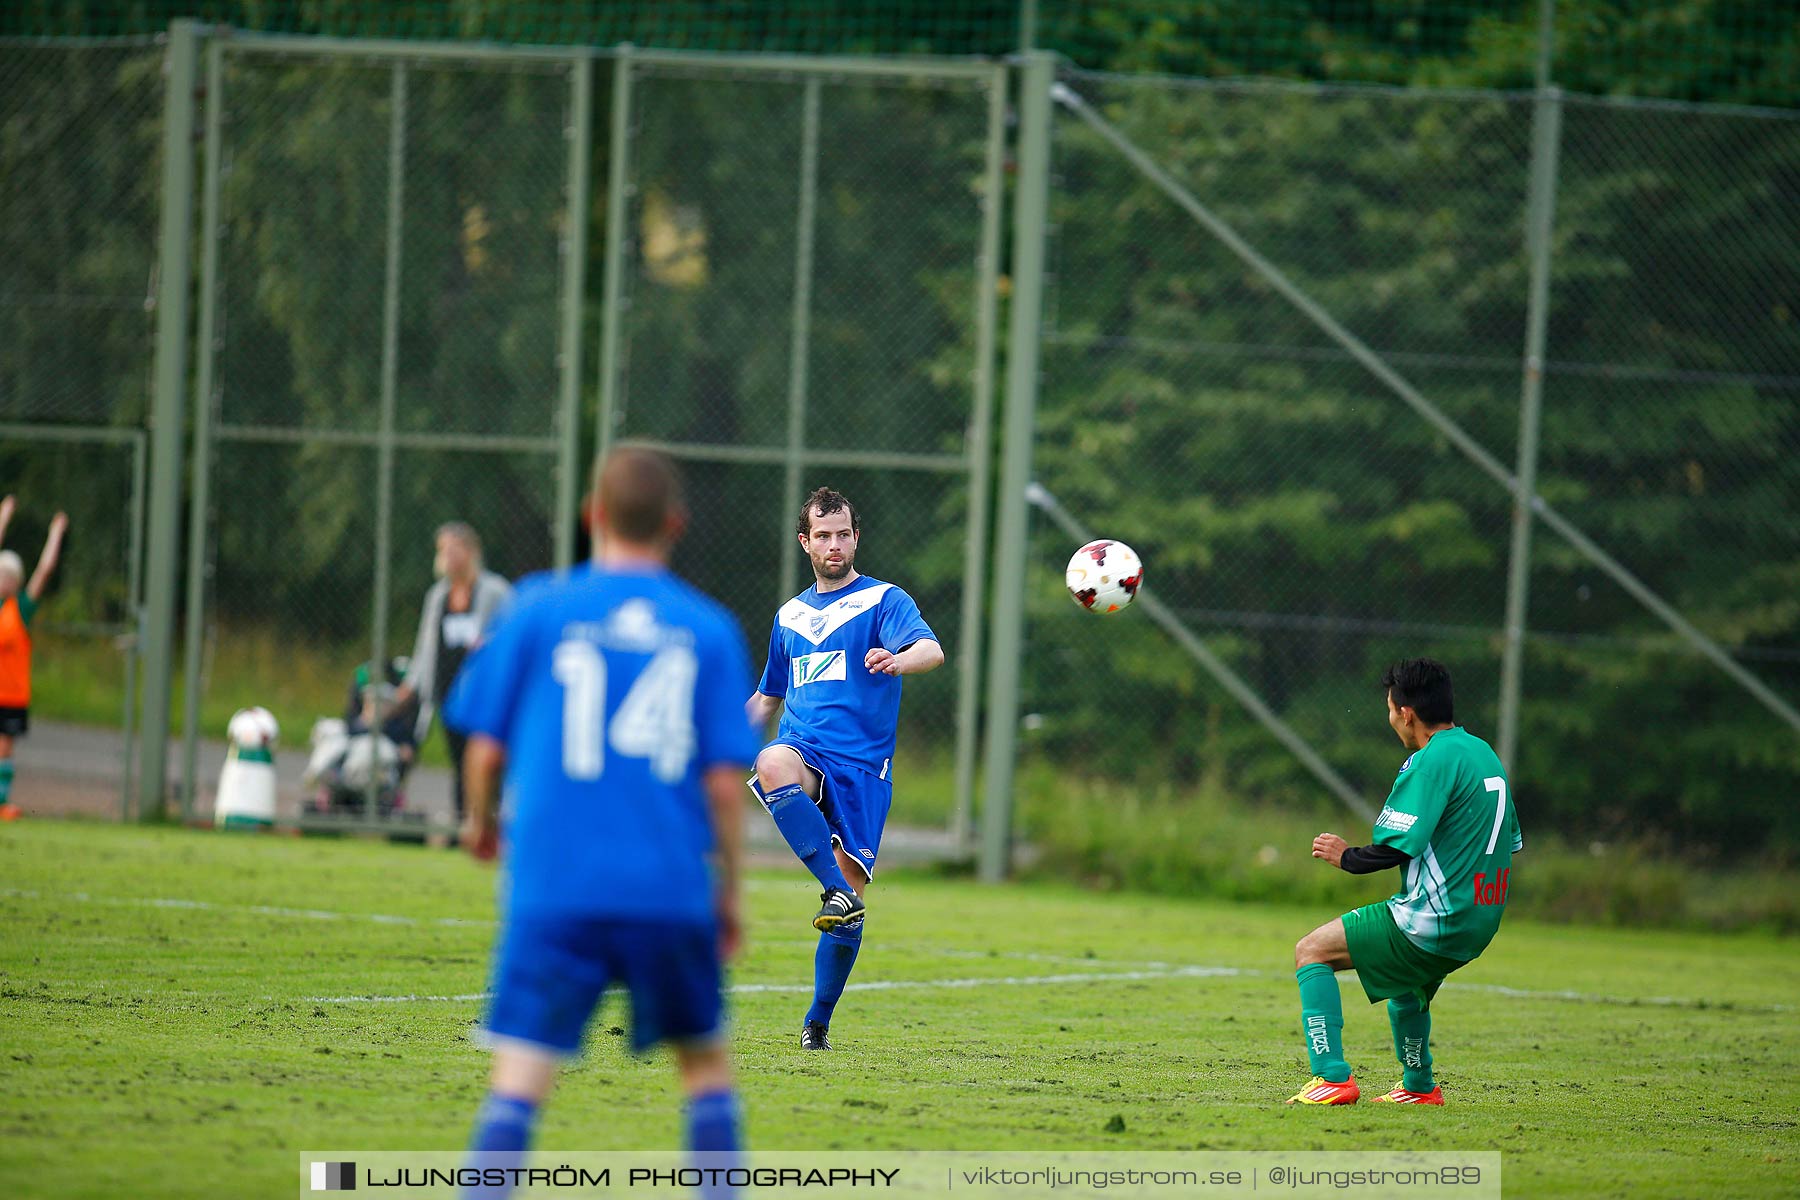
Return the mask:
{"type": "Polygon", "coordinates": [[[724,1022],[716,927],[515,916],[500,937],[482,1040],[572,1056],[614,984],[632,997],[635,1052],[716,1038],[724,1022]]]}

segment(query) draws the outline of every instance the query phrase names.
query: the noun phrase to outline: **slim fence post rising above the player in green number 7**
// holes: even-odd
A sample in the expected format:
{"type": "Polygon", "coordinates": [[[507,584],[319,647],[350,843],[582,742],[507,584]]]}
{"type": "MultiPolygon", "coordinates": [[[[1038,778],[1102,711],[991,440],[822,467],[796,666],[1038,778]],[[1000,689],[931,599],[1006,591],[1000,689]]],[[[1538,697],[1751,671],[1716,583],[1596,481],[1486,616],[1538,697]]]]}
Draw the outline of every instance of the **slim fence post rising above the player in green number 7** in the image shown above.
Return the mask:
{"type": "Polygon", "coordinates": [[[1562,92],[1550,83],[1555,0],[1543,0],[1537,25],[1537,99],[1532,108],[1532,182],[1525,246],[1530,293],[1525,309],[1525,378],[1519,389],[1519,461],[1512,493],[1512,558],[1507,563],[1507,640],[1499,658],[1499,761],[1517,770],[1519,694],[1525,685],[1525,626],[1532,587],[1532,511],[1537,497],[1537,426],[1544,398],[1544,333],[1550,322],[1550,234],[1557,212],[1562,92]]]}

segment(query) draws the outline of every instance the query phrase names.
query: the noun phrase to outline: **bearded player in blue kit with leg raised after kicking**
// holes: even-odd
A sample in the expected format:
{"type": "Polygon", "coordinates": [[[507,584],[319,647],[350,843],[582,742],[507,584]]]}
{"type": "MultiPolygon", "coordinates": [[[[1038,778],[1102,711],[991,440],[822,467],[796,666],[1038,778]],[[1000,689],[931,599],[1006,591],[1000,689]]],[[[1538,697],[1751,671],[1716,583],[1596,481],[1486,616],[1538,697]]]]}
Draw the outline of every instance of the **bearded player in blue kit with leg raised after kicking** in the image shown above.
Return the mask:
{"type": "Polygon", "coordinates": [[[857,574],[860,522],[850,500],[819,488],[794,529],[814,585],[781,604],[769,664],[747,712],[758,727],[781,709],[776,739],[756,756],[751,790],[776,829],[824,885],[806,1051],[826,1031],[862,946],[862,891],[875,874],[893,802],[900,676],[943,666],[943,648],[913,597],[857,574]]]}

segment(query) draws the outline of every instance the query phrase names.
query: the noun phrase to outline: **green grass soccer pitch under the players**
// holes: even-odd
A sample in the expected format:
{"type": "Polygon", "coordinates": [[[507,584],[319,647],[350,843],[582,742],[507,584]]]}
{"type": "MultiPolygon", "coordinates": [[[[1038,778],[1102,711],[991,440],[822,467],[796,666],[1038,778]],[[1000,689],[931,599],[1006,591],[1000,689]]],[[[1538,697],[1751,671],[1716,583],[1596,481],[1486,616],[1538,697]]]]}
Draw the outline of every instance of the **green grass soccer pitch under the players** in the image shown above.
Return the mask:
{"type": "MultiPolygon", "coordinates": [[[[378,842],[5,826],[0,1193],[274,1196],[301,1150],[464,1144],[491,887],[378,842]],[[416,999],[346,999],[374,995],[416,999]]],[[[752,1146],[1498,1150],[1519,1196],[1800,1193],[1789,941],[1508,921],[1435,1006],[1447,1108],[1318,1110],[1282,1099],[1307,1078],[1292,943],[1330,912],[882,878],[853,977],[882,986],[801,1058],[815,889],[761,871],[747,901],[752,1146]]],[[[1386,1015],[1343,993],[1384,1088],[1386,1015]]],[[[679,1144],[673,1070],[625,1054],[621,1022],[596,1022],[540,1146],[679,1144]]]]}

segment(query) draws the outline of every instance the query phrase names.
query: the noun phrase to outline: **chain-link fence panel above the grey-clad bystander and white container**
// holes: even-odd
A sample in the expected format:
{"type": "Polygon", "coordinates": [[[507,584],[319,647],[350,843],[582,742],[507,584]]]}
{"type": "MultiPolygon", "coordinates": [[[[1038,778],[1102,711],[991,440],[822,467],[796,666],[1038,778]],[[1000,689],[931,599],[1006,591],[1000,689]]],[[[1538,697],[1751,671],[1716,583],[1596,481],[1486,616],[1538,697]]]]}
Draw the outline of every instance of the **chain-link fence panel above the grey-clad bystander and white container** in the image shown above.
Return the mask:
{"type": "MultiPolygon", "coordinates": [[[[567,561],[590,77],[585,54],[209,45],[202,806],[194,743],[230,711],[270,707],[304,741],[351,714],[358,666],[412,649],[439,525],[473,525],[509,578],[567,561]]],[[[423,792],[412,811],[446,822],[423,792]]]]}

